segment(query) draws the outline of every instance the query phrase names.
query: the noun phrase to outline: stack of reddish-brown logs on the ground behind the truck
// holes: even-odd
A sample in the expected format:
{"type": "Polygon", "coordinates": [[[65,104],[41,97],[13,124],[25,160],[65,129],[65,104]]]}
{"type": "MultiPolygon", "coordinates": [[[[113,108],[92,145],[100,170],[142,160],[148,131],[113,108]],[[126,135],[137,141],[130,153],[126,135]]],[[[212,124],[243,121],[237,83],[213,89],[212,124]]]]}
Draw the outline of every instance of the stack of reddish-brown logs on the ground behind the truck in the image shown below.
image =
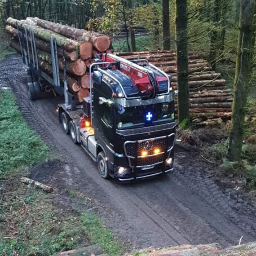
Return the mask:
{"type": "MultiPolygon", "coordinates": [[[[175,51],[120,52],[128,60],[147,59],[172,75],[172,88],[178,89],[175,51]]],[[[228,119],[231,116],[232,91],[225,86],[221,74],[212,70],[206,60],[189,53],[190,114],[193,119],[228,119]]],[[[177,113],[177,101],[176,101],[177,113]]]]}

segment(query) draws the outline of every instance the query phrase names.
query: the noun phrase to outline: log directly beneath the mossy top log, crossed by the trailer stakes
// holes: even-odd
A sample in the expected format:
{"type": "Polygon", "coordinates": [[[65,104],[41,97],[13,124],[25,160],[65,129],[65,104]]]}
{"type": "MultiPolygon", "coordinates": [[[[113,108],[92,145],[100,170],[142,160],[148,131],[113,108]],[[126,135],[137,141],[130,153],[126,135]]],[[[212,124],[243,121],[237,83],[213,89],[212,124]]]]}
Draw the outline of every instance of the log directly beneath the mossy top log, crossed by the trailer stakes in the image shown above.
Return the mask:
{"type": "MultiPolygon", "coordinates": [[[[5,31],[11,35],[14,35],[15,37],[18,36],[18,30],[14,28],[13,26],[5,26],[5,31]]],[[[45,42],[43,40],[40,40],[35,37],[35,46],[37,49],[41,49],[47,53],[51,53],[51,45],[48,42],[45,42]]],[[[57,48],[57,53],[59,57],[62,57],[62,50],[60,48],[57,48]]],[[[64,51],[64,56],[66,60],[75,61],[78,59],[78,54],[76,52],[67,52],[64,51]]]]}

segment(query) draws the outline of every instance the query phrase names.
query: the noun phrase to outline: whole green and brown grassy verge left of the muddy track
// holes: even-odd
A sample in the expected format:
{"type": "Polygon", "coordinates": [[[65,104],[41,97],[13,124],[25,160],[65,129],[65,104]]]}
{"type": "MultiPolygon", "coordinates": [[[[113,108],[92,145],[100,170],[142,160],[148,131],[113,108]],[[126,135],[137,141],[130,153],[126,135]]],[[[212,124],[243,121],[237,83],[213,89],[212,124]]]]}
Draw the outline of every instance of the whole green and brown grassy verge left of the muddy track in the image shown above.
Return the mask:
{"type": "Polygon", "coordinates": [[[59,209],[55,192],[20,182],[30,175],[27,166],[50,160],[49,149],[22,118],[12,93],[0,90],[0,109],[0,255],[49,256],[95,243],[109,256],[120,255],[119,242],[97,216],[59,209]]]}

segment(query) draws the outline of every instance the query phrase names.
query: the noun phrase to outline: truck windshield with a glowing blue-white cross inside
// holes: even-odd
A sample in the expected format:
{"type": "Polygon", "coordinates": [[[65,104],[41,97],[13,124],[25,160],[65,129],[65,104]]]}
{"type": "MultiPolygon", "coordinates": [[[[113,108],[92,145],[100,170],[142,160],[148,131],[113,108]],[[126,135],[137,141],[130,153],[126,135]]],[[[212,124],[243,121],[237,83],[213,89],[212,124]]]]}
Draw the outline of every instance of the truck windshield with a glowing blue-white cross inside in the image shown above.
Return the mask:
{"type": "Polygon", "coordinates": [[[117,113],[116,116],[118,129],[140,128],[173,121],[174,107],[172,103],[133,106],[125,108],[123,115],[117,113]]]}

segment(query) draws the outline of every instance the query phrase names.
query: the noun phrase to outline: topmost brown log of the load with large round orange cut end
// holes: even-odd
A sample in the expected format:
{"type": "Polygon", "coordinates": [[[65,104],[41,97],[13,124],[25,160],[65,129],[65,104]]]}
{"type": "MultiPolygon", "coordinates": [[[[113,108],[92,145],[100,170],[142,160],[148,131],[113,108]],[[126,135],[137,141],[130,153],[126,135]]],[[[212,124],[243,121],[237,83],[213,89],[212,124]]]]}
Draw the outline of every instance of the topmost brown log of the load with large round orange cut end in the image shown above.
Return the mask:
{"type": "Polygon", "coordinates": [[[27,18],[27,20],[36,24],[37,26],[51,30],[59,35],[66,36],[74,40],[90,42],[99,52],[105,52],[110,47],[110,39],[107,35],[77,29],[59,23],[49,22],[39,18],[27,18]]]}

